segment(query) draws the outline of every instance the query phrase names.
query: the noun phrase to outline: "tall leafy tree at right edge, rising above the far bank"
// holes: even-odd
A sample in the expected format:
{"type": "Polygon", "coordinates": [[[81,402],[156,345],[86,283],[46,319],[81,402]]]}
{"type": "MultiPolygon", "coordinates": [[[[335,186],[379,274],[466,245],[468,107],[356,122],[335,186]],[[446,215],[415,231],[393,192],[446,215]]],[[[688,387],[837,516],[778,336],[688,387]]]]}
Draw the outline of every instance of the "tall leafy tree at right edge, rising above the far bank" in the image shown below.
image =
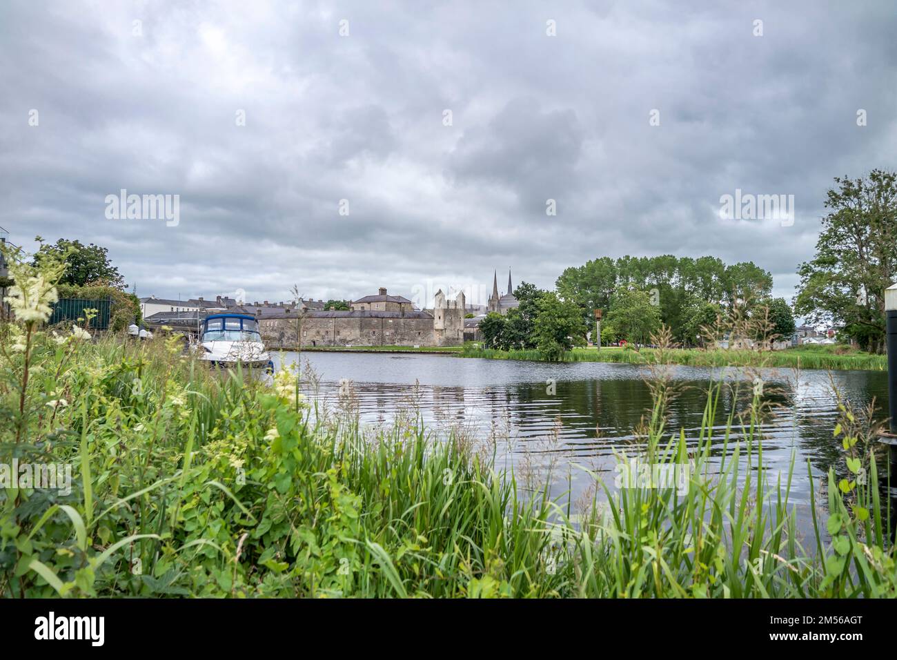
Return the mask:
{"type": "Polygon", "coordinates": [[[884,351],[884,289],[897,275],[897,174],[835,178],[813,260],[797,268],[795,312],[833,322],[860,348],[884,351]]]}

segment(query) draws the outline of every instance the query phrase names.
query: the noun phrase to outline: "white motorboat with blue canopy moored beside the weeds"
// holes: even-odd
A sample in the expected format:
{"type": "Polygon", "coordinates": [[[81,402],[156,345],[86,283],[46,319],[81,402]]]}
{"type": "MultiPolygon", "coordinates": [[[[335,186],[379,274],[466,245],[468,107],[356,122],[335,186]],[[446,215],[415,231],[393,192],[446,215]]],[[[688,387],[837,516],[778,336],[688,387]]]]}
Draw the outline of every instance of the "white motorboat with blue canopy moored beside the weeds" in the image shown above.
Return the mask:
{"type": "Polygon", "coordinates": [[[213,366],[243,365],[274,370],[265,349],[258,321],[248,314],[211,314],[203,321],[199,337],[201,359],[213,366]]]}

